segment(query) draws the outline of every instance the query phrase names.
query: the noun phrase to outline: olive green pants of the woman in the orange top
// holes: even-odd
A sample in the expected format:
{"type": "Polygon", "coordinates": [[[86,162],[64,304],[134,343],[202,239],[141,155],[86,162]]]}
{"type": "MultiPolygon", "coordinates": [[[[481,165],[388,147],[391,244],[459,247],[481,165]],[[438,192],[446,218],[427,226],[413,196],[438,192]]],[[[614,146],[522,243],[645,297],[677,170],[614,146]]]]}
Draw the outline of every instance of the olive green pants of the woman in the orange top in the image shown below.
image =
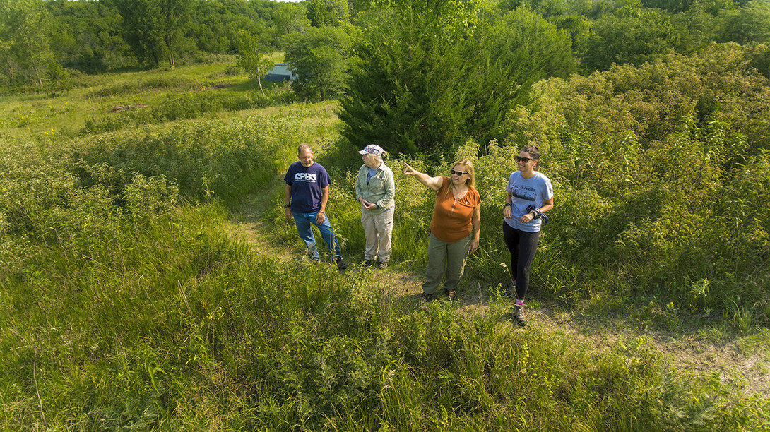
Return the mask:
{"type": "Polygon", "coordinates": [[[457,290],[460,276],[465,270],[465,261],[470,248],[469,234],[456,242],[444,242],[430,233],[428,239],[428,265],[425,267],[425,282],[423,291],[433,294],[438,290],[441,278],[444,277],[444,290],[457,290]]]}

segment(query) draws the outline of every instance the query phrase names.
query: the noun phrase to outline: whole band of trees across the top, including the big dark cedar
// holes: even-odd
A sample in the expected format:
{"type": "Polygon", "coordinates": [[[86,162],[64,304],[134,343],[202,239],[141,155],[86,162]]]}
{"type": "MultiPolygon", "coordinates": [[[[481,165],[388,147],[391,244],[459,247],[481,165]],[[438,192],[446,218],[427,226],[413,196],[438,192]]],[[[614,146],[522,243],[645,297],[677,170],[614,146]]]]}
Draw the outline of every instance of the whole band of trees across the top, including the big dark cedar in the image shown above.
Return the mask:
{"type": "MultiPolygon", "coordinates": [[[[0,0],[0,85],[286,52],[300,100],[341,99],[343,135],[416,153],[503,139],[534,82],[752,48],[770,75],[768,0],[0,0]]],[[[261,83],[260,83],[261,84],[261,83]]]]}

